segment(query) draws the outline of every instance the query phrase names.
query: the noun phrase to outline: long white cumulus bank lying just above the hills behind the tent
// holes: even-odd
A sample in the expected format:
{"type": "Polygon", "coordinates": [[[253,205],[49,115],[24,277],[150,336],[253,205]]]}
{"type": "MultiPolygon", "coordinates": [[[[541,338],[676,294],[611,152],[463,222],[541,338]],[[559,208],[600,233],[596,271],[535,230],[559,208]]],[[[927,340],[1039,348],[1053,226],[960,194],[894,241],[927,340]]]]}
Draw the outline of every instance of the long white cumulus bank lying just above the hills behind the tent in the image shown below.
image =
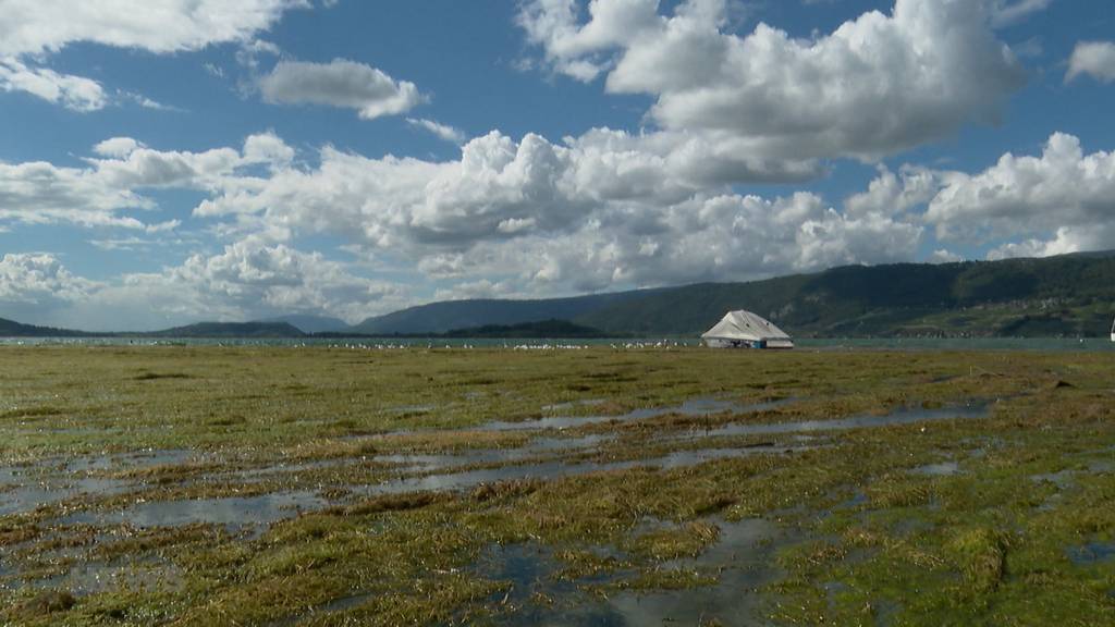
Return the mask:
{"type": "Polygon", "coordinates": [[[559,237],[507,240],[442,262],[463,277],[498,277],[516,292],[575,293],[908,260],[921,231],[879,213],[849,216],[815,194],[726,194],[613,206],[559,237]]]}

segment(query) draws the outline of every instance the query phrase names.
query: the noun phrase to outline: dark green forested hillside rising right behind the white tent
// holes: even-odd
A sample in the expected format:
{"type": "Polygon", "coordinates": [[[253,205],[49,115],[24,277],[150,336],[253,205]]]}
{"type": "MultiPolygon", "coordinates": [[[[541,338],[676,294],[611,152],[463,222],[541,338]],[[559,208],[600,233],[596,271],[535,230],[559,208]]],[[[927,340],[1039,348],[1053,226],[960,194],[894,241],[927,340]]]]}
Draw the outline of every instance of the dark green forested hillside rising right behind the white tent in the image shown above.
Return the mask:
{"type": "Polygon", "coordinates": [[[1115,312],[1115,258],[835,268],[675,288],[575,321],[691,335],[730,309],[750,309],[797,336],[1102,336],[1115,312]]]}

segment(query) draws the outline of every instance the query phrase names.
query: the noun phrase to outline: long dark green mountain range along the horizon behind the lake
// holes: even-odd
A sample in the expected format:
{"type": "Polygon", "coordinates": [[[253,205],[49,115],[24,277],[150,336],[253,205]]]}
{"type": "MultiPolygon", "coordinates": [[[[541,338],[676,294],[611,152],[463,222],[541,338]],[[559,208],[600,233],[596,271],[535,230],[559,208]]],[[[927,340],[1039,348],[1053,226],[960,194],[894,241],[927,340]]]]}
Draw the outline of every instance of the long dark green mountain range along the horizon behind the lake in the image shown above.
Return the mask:
{"type": "MultiPolygon", "coordinates": [[[[733,309],[765,316],[795,337],[1106,336],[1115,315],[1115,252],[944,264],[850,266],[746,283],[699,283],[545,300],[445,301],[368,318],[352,327],[332,318],[290,316],[126,335],[696,336],[733,309]]],[[[0,335],[120,334],[83,334],[0,319],[0,335]]]]}

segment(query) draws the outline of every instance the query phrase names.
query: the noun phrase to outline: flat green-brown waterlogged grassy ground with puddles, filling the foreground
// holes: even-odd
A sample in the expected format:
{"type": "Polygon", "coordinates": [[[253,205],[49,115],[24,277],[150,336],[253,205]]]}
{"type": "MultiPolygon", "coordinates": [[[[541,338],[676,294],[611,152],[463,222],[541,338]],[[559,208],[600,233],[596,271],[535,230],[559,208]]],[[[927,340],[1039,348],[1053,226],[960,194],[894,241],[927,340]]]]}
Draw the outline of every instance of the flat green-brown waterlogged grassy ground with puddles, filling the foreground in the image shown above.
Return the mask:
{"type": "Polygon", "coordinates": [[[2,347],[0,608],[1115,624],[1115,356],[2,347]]]}

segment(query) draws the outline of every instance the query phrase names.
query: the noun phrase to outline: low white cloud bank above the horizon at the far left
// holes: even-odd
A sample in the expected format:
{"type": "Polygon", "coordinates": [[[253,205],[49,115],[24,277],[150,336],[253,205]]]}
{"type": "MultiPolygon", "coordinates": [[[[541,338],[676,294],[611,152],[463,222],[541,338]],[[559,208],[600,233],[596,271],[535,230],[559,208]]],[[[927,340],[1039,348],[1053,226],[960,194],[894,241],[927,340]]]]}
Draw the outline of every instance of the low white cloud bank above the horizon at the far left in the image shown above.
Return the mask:
{"type": "MultiPolygon", "coordinates": [[[[136,238],[97,242],[135,250],[136,238]]],[[[352,273],[319,252],[249,237],[215,254],[195,253],[159,272],[91,281],[50,253],[0,259],[0,316],[90,330],[143,330],[197,320],[252,320],[304,312],[350,322],[408,305],[395,283],[352,273]]]]}

